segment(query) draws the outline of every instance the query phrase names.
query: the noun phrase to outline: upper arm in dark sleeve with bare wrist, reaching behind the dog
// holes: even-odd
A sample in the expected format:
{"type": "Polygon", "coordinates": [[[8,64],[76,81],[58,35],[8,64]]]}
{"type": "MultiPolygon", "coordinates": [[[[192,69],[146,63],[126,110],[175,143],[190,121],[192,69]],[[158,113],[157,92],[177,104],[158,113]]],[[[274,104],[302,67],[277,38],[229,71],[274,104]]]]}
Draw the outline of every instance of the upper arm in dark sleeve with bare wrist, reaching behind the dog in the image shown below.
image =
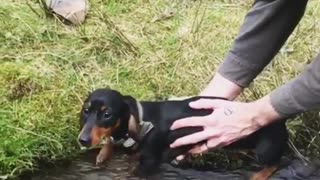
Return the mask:
{"type": "Polygon", "coordinates": [[[307,1],[256,1],[218,72],[200,95],[235,99],[272,60],[304,14],[307,1]]]}

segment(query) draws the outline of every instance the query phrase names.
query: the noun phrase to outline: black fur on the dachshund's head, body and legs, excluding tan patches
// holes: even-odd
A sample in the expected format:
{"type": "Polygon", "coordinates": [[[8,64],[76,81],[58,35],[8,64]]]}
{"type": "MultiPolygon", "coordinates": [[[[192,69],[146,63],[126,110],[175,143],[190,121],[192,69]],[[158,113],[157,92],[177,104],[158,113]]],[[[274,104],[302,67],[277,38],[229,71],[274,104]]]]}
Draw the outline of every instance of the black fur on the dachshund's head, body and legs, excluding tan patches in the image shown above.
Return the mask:
{"type": "MultiPolygon", "coordinates": [[[[185,100],[140,102],[144,112],[143,120],[152,122],[154,128],[140,142],[142,149],[140,162],[135,171],[137,175],[148,176],[154,174],[162,162],[169,162],[178,155],[186,154],[194,146],[169,148],[169,145],[176,139],[202,131],[201,127],[181,128],[174,131],[169,129],[175,120],[191,116],[205,116],[212,113],[212,110],[195,110],[189,107],[189,102],[200,98],[223,99],[198,96],[185,100]]],[[[115,90],[95,90],[88,96],[85,104],[88,102],[91,102],[91,107],[88,109],[89,112],[85,114],[83,112],[84,108],[81,112],[82,127],[85,123],[92,124],[93,122],[98,126],[107,127],[114,124],[117,119],[120,119],[119,128],[112,134],[116,139],[126,136],[130,114],[138,118],[136,100],[131,96],[123,96],[115,90]],[[104,112],[99,111],[102,105],[110,107],[111,110],[109,109],[109,111],[112,114],[112,118],[108,120],[102,118],[104,112]],[[95,118],[88,118],[90,116],[88,114],[95,118]]],[[[90,135],[84,136],[88,137],[90,135]]],[[[287,146],[287,139],[288,133],[285,121],[278,121],[225,148],[253,149],[256,151],[257,160],[261,165],[273,166],[279,163],[287,146]]]]}

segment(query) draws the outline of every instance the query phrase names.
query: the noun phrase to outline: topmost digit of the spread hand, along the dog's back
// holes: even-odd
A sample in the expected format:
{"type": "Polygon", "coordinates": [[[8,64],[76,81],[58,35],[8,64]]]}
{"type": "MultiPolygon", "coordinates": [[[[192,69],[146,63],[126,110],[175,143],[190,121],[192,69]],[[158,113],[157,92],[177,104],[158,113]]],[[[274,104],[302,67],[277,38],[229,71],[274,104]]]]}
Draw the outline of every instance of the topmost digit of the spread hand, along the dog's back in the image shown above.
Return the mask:
{"type": "Polygon", "coordinates": [[[221,99],[199,99],[189,103],[189,106],[193,109],[215,109],[225,107],[229,101],[221,99]]]}

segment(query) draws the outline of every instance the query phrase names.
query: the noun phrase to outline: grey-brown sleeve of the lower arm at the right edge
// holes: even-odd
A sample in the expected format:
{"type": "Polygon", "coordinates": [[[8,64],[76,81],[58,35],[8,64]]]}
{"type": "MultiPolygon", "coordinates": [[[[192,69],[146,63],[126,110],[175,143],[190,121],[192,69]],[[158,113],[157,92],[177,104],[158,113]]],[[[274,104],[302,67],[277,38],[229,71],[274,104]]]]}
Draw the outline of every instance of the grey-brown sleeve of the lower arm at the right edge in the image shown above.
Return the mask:
{"type": "Polygon", "coordinates": [[[296,78],[270,94],[274,109],[283,117],[320,107],[320,54],[296,78]]]}

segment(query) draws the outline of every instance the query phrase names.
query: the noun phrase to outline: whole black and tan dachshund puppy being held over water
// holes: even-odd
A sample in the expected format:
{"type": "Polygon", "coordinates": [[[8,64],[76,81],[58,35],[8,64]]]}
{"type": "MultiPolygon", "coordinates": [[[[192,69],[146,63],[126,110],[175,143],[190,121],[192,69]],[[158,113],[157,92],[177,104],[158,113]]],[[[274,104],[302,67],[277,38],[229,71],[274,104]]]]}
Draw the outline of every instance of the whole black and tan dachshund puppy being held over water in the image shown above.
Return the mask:
{"type": "MultiPolygon", "coordinates": [[[[174,131],[169,129],[175,120],[212,113],[212,110],[195,110],[189,107],[189,102],[200,98],[218,97],[139,102],[115,90],[97,89],[89,94],[81,110],[79,141],[83,146],[90,147],[99,144],[104,137],[112,137],[114,141],[119,141],[129,135],[141,147],[135,174],[144,177],[152,175],[162,162],[170,162],[176,156],[186,154],[194,146],[186,145],[175,149],[169,147],[182,136],[202,131],[201,127],[174,131]]],[[[277,170],[277,165],[287,147],[287,139],[285,121],[279,121],[226,148],[255,150],[258,162],[265,168],[251,179],[262,180],[268,179],[277,170]]]]}

